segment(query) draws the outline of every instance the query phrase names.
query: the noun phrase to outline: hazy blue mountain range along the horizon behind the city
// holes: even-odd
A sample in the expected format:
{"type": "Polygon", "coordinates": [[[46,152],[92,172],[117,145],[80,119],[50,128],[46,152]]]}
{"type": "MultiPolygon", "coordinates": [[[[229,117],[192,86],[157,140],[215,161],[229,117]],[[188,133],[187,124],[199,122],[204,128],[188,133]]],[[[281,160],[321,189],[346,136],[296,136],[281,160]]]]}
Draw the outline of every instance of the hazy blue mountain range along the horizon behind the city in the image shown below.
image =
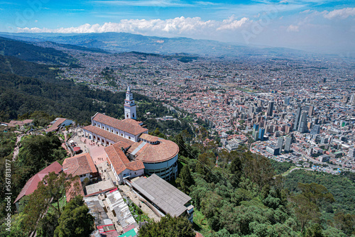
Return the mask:
{"type": "Polygon", "coordinates": [[[302,56],[307,53],[288,48],[260,48],[234,45],[214,40],[194,40],[192,38],[161,38],[135,35],[131,33],[16,33],[11,38],[27,41],[53,41],[60,44],[99,48],[113,53],[137,51],[142,53],[188,53],[203,56],[302,56]]]}

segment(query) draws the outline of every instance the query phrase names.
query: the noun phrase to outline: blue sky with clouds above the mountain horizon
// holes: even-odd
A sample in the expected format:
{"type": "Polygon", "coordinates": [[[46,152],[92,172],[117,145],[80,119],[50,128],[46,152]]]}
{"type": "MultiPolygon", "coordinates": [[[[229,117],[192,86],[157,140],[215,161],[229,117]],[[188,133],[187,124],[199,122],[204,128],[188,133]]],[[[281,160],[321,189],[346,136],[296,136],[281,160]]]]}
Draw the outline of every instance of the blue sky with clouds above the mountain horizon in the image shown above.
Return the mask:
{"type": "Polygon", "coordinates": [[[355,53],[355,1],[0,0],[0,32],[126,32],[355,53]]]}

